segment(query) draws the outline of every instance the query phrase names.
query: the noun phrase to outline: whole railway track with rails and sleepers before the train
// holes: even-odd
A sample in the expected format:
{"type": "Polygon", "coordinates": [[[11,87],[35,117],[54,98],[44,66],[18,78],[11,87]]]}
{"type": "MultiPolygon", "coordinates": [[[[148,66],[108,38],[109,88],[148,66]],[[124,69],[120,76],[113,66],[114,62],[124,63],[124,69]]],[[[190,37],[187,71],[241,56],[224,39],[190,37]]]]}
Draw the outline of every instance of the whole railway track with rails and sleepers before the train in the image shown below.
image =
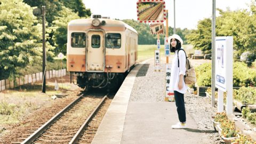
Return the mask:
{"type": "Polygon", "coordinates": [[[23,142],[12,143],[76,143],[79,140],[79,143],[90,143],[110,105],[111,100],[107,95],[80,95],[45,124],[35,125],[28,130],[23,135],[27,138],[19,138],[23,142]]]}

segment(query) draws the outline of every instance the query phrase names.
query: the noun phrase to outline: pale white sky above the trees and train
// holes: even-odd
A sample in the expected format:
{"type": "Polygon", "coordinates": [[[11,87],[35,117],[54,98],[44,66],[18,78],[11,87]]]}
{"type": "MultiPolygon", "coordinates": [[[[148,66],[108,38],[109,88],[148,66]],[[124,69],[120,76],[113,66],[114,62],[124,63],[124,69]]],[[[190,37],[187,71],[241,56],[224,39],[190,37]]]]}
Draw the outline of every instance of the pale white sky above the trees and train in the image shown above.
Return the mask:
{"type": "MultiPolygon", "coordinates": [[[[91,9],[93,14],[100,14],[110,19],[137,20],[138,0],[83,0],[86,9],[91,9]]],[[[169,12],[168,25],[174,27],[174,0],[165,0],[166,10],[169,12]]],[[[251,0],[215,0],[216,8],[222,10],[249,9],[251,0]]],[[[218,12],[216,12],[218,15],[218,12]]],[[[197,22],[204,18],[212,17],[212,0],[176,0],[175,1],[175,26],[176,28],[196,29],[197,22]]],[[[165,23],[165,22],[164,22],[165,23]]]]}

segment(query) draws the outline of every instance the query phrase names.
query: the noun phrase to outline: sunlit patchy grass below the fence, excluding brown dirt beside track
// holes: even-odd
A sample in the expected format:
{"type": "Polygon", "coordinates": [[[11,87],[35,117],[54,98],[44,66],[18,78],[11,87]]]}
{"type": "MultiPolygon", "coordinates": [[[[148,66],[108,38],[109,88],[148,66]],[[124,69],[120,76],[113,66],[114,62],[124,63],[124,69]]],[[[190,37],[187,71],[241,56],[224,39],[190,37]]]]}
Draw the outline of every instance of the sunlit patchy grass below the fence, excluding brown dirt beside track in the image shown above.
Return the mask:
{"type": "MultiPolygon", "coordinates": [[[[71,85],[59,81],[59,90],[54,90],[54,80],[46,81],[46,94],[41,93],[42,84],[26,84],[15,87],[14,90],[6,90],[0,93],[0,125],[15,124],[21,121],[23,116],[29,115],[32,111],[51,105],[54,101],[52,95],[69,91],[71,85]]],[[[1,131],[0,131],[1,133],[1,131]]]]}

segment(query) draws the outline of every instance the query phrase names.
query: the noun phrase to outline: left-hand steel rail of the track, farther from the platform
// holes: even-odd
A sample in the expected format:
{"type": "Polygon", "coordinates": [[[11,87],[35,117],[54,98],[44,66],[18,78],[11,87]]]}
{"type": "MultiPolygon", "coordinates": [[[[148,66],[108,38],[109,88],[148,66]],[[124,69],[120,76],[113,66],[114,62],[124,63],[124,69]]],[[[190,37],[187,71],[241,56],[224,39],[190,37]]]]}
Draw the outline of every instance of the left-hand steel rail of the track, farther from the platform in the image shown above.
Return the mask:
{"type": "Polygon", "coordinates": [[[60,118],[68,109],[70,109],[71,107],[73,107],[79,100],[82,99],[82,97],[84,96],[84,94],[81,94],[76,100],[74,100],[73,102],[71,102],[67,107],[63,108],[58,114],[56,114],[55,116],[53,116],[49,121],[47,121],[44,125],[42,125],[41,127],[39,127],[38,130],[36,130],[33,134],[31,134],[26,140],[24,140],[23,142],[21,142],[21,144],[28,144],[28,143],[32,143],[33,141],[35,141],[35,139],[41,135],[49,126],[51,126],[58,118],[60,118]]]}

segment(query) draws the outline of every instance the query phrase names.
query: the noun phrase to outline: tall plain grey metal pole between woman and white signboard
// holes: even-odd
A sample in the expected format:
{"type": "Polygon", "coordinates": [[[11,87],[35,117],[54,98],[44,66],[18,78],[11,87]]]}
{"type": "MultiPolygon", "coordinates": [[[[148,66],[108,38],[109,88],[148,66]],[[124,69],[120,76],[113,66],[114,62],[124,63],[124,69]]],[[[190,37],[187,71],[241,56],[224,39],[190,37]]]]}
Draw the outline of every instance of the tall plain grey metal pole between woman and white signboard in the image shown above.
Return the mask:
{"type": "Polygon", "coordinates": [[[215,106],[215,23],[216,0],[212,0],[212,106],[215,106]]]}

